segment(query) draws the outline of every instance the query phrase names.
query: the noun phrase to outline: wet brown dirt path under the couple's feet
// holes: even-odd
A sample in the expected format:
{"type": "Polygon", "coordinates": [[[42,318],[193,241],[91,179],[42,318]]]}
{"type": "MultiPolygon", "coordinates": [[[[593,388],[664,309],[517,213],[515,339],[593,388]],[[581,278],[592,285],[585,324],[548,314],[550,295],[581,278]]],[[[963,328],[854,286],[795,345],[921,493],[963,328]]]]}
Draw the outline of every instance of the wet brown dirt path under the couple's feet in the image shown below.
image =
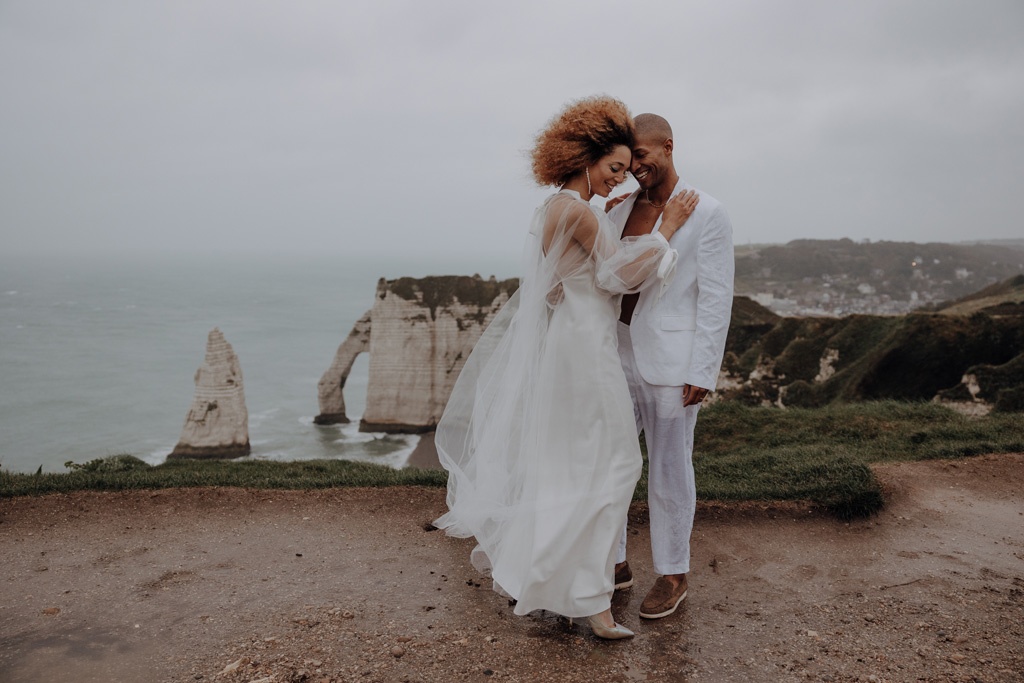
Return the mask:
{"type": "Polygon", "coordinates": [[[4,500],[0,680],[1024,680],[1024,456],[879,473],[889,506],[852,524],[702,507],[657,622],[635,506],[621,642],[514,616],[470,542],[424,530],[440,489],[4,500]]]}

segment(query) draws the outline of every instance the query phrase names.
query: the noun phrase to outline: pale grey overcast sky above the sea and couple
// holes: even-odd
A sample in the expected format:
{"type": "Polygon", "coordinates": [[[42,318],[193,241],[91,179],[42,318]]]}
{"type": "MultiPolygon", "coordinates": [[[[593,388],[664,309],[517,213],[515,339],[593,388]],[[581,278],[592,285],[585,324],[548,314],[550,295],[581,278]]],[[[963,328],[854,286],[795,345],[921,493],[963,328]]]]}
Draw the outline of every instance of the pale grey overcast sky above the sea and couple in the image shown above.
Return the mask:
{"type": "Polygon", "coordinates": [[[518,254],[532,138],[596,93],[737,245],[1020,238],[1022,37],[1020,0],[0,0],[2,251],[518,254]]]}

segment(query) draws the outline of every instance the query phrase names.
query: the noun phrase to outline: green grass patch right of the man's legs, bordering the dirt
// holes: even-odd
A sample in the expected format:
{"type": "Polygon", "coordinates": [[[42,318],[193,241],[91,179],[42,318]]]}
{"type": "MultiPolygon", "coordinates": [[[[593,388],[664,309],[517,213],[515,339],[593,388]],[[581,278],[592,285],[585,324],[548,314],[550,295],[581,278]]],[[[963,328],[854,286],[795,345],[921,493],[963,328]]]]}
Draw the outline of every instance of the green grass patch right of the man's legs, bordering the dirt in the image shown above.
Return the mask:
{"type": "MultiPolygon", "coordinates": [[[[871,463],[1021,453],[1024,420],[901,401],[787,410],[720,402],[700,411],[694,441],[698,500],[804,501],[849,519],[885,503],[871,463]]],[[[646,472],[637,498],[646,498],[646,472]]]]}

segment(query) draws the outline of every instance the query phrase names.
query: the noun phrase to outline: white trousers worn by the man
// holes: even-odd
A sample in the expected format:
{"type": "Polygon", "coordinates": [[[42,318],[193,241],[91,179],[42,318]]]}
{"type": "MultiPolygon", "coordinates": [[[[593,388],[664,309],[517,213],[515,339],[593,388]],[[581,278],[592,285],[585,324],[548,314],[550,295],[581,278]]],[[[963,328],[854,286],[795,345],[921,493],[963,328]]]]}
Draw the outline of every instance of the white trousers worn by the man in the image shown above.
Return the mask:
{"type": "MultiPolygon", "coordinates": [[[[647,440],[650,547],[659,574],[690,570],[690,533],[696,510],[693,427],[700,404],[683,408],[683,388],[648,384],[637,370],[630,326],[618,324],[618,356],[633,397],[637,434],[647,440]]],[[[615,562],[626,561],[626,528],[615,562]]]]}

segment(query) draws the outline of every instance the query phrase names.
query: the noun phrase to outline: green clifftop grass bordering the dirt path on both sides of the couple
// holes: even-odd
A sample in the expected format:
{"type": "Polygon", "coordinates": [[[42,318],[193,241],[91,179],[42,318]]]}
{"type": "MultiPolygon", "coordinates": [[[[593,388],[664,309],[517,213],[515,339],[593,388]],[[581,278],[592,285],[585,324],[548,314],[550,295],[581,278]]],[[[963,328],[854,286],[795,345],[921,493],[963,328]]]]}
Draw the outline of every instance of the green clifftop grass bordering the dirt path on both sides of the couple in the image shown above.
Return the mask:
{"type": "MultiPolygon", "coordinates": [[[[700,412],[693,461],[701,501],[810,502],[841,518],[884,505],[869,465],[1024,452],[1020,415],[963,417],[934,403],[880,401],[821,409],[751,408],[721,402],[700,412]]],[[[443,486],[440,470],[393,470],[339,460],[292,463],[174,460],[150,466],[115,456],[59,474],[0,470],[0,498],[81,489],[178,486],[327,488],[443,486]]],[[[647,496],[646,467],[635,499],[647,496]]]]}

